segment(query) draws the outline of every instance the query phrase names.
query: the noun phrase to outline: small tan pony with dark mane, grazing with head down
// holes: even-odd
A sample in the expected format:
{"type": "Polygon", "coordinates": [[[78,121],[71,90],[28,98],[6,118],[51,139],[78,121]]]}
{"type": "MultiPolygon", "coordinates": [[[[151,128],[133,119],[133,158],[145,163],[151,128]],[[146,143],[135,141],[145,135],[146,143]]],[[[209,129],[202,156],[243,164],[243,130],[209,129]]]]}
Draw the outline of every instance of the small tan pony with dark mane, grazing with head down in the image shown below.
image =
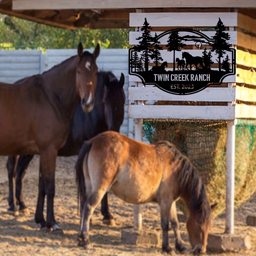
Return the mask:
{"type": "MultiPolygon", "coordinates": [[[[172,252],[169,221],[173,217],[177,221],[175,202],[181,197],[189,212],[187,230],[193,252],[206,251],[211,206],[194,166],[170,142],[148,145],[117,132],[101,133],[84,142],[76,163],[76,181],[81,206],[78,245],[86,248],[89,244],[90,218],[111,189],[130,204],[159,204],[162,249],[167,253],[172,252]]],[[[175,225],[173,228],[176,233],[175,225]]]]}

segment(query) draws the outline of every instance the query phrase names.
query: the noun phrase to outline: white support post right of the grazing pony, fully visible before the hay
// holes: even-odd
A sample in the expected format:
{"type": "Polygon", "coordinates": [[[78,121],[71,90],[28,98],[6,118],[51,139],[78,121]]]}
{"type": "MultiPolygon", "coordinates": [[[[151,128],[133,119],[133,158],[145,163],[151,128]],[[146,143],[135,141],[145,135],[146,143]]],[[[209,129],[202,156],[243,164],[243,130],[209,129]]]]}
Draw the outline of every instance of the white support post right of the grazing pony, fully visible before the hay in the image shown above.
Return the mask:
{"type": "Polygon", "coordinates": [[[234,233],[234,195],[235,195],[235,140],[236,120],[227,123],[227,171],[226,171],[226,230],[234,233]]]}

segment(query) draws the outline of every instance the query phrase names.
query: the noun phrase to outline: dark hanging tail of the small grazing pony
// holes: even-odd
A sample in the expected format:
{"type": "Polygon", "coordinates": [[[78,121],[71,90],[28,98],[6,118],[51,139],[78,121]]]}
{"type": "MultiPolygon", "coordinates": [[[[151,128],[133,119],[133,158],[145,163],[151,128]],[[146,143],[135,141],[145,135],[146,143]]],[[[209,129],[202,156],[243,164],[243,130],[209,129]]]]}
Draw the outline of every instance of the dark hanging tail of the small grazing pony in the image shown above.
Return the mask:
{"type": "Polygon", "coordinates": [[[83,207],[86,201],[86,188],[85,188],[85,179],[84,179],[84,157],[86,156],[86,165],[88,161],[88,155],[90,149],[92,147],[92,143],[90,141],[85,141],[82,148],[79,151],[79,155],[76,161],[76,184],[77,184],[77,207],[80,209],[83,207]]]}

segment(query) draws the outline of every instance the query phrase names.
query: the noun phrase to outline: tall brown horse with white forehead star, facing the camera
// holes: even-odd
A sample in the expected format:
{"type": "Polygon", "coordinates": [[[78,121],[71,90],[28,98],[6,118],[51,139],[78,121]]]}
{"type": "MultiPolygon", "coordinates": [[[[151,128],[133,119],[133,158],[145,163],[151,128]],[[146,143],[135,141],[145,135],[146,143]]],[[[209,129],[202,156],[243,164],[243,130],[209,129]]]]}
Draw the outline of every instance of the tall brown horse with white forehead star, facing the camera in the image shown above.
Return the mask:
{"type": "Polygon", "coordinates": [[[79,99],[84,112],[92,110],[97,85],[99,44],[89,53],[80,43],[77,53],[20,84],[0,83],[0,155],[40,155],[35,221],[53,232],[62,232],[53,212],[57,152],[67,140],[79,99]]]}

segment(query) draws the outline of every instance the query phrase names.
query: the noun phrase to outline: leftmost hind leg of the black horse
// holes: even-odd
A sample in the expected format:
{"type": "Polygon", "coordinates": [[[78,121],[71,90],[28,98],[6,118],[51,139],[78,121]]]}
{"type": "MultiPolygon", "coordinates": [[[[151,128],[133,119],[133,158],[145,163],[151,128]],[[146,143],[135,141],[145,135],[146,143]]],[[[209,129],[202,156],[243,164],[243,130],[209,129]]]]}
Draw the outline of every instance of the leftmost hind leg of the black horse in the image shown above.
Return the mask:
{"type": "Polygon", "coordinates": [[[18,162],[19,156],[9,156],[7,160],[7,170],[8,170],[8,180],[9,180],[9,197],[8,203],[10,208],[8,212],[12,212],[14,216],[19,215],[18,207],[17,207],[17,200],[15,197],[15,176],[16,176],[16,167],[18,162]]]}

